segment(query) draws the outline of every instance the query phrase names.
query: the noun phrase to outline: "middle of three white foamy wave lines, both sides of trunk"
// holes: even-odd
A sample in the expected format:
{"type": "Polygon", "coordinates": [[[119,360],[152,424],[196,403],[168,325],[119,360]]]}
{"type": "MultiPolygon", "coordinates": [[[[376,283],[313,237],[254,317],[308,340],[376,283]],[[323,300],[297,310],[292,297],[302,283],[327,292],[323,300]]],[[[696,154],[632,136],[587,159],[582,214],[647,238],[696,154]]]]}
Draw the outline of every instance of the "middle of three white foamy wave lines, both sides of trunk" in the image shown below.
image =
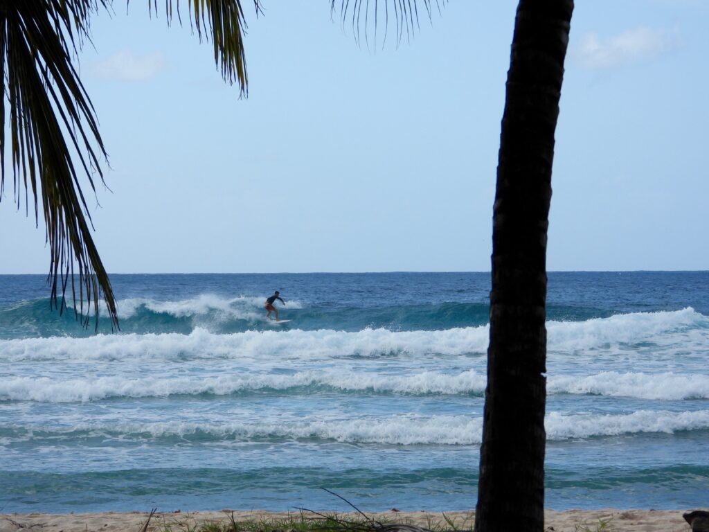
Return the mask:
{"type": "MultiPolygon", "coordinates": [[[[486,375],[462,372],[373,373],[348,369],[307,370],[289,375],[234,372],[217,376],[150,375],[103,376],[62,379],[58,377],[9,376],[0,382],[0,401],[70,403],[121,397],[169,397],[211,394],[225,396],[250,392],[286,392],[292,395],[318,392],[468,395],[482,397],[486,375]]],[[[601,395],[649,401],[709,399],[709,376],[676,373],[601,372],[596,375],[551,376],[547,394],[601,395]]]]}

